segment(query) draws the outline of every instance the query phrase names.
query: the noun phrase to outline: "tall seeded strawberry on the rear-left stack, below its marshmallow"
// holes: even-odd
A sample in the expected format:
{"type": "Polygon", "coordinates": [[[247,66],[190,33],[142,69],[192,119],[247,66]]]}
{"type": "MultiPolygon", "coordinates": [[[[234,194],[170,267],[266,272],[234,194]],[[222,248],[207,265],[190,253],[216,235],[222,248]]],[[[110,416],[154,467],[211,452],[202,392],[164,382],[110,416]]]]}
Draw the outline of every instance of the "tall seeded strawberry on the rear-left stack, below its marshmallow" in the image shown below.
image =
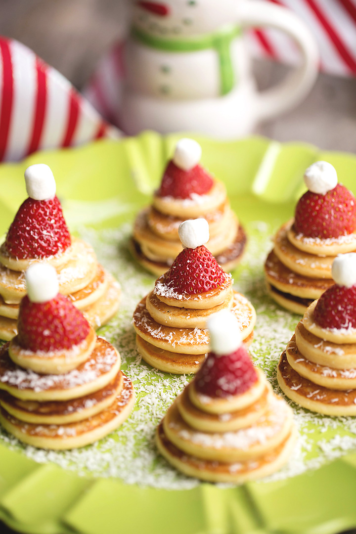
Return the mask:
{"type": "Polygon", "coordinates": [[[57,196],[50,200],[28,198],[7,232],[5,247],[16,258],[45,258],[64,252],[70,234],[57,196]]]}

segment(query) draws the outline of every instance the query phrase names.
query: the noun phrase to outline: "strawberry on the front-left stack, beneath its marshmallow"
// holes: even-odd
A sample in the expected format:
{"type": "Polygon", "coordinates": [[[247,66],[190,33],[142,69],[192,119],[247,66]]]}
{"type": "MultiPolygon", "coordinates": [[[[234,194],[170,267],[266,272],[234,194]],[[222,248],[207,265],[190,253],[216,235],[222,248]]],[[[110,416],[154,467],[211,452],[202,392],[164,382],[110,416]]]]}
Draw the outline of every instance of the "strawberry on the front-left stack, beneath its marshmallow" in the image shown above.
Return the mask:
{"type": "Polygon", "coordinates": [[[63,295],[47,302],[23,297],[18,320],[18,343],[31,351],[72,349],[88,336],[88,321],[63,295]]]}

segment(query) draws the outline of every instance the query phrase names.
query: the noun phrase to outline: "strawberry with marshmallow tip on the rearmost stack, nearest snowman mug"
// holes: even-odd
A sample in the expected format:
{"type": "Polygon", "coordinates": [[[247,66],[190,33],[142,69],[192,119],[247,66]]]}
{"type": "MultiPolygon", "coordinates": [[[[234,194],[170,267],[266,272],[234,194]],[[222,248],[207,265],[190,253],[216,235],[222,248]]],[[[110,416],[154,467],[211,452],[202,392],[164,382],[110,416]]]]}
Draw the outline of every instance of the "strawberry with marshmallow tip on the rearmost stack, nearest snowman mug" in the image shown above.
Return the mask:
{"type": "Polygon", "coordinates": [[[180,139],[171,161],[164,171],[158,191],[160,197],[188,199],[210,191],[213,179],[200,166],[202,149],[194,139],[180,139]]]}

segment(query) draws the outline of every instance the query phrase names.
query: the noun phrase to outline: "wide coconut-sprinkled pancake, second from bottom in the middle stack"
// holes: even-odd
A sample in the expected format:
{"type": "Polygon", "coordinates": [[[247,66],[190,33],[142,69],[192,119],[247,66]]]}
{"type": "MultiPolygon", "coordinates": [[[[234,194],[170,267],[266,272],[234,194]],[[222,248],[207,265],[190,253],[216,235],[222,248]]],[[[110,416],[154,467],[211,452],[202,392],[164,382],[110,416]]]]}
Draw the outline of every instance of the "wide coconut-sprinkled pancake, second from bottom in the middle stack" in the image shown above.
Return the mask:
{"type": "MultiPolygon", "coordinates": [[[[148,343],[170,352],[183,354],[205,354],[209,350],[209,335],[203,328],[175,328],[157,323],[146,308],[144,297],[133,313],[133,327],[136,333],[148,343]]],[[[252,304],[240,293],[234,292],[231,309],[238,319],[242,339],[245,340],[253,331],[256,312],[252,304]]]]}

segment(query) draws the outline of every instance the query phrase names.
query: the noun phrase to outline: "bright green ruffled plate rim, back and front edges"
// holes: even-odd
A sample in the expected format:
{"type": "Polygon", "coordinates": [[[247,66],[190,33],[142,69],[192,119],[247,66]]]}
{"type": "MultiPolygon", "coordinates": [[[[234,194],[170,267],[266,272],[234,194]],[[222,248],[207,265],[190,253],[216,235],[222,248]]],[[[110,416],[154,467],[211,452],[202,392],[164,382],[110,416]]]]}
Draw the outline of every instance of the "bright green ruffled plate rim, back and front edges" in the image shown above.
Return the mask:
{"type": "MultiPolygon", "coordinates": [[[[320,159],[333,163],[339,180],[356,191],[352,154],[260,137],[235,142],[194,137],[202,144],[203,163],[225,181],[243,221],[290,217],[303,192],[304,169],[320,159]]],[[[26,196],[23,171],[38,162],[51,166],[72,229],[131,220],[159,182],[176,139],[145,132],[2,164],[0,231],[26,196]]],[[[286,481],[167,491],[79,477],[54,464],[36,464],[0,443],[0,519],[33,534],[334,534],[356,527],[356,454],[286,481]]]]}

